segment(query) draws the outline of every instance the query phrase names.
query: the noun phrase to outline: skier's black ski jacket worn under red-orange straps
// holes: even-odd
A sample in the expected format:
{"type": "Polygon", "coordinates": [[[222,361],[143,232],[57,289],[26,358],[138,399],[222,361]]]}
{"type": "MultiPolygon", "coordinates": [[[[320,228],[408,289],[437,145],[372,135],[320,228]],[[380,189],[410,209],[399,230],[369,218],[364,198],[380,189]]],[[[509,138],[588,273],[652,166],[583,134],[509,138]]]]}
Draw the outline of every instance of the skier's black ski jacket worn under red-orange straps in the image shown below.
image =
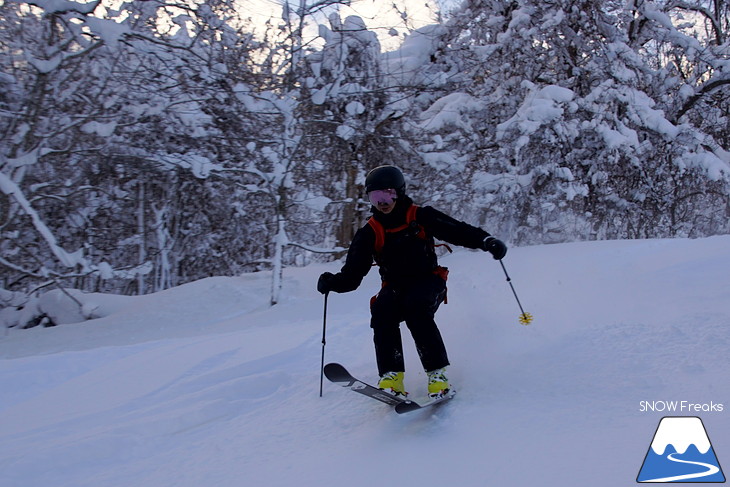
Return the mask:
{"type": "MultiPolygon", "coordinates": [[[[399,198],[393,211],[384,214],[373,207],[373,216],[385,229],[394,229],[406,223],[406,213],[413,201],[399,198]]],[[[338,293],[353,291],[360,286],[370,271],[373,260],[378,264],[383,281],[393,285],[407,285],[422,279],[438,267],[434,238],[461,247],[480,249],[489,233],[430,207],[418,207],[416,223],[425,231],[426,238],[417,236],[419,228],[405,228],[385,233],[385,243],[375,255],[375,231],[365,225],[355,233],[347,252],[345,265],[332,279],[332,290],[338,293]]]]}

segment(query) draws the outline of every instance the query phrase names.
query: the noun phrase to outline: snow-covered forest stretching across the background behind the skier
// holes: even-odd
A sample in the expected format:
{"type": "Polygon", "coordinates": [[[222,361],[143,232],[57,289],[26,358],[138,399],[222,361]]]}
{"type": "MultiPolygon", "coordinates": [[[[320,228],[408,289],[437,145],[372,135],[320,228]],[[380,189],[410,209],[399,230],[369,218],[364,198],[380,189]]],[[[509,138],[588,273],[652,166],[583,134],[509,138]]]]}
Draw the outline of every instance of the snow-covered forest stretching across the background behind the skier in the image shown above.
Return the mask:
{"type": "Polygon", "coordinates": [[[276,304],[381,164],[509,245],[730,233],[726,0],[464,0],[391,50],[349,3],[0,0],[0,322],[254,271],[276,304]]]}

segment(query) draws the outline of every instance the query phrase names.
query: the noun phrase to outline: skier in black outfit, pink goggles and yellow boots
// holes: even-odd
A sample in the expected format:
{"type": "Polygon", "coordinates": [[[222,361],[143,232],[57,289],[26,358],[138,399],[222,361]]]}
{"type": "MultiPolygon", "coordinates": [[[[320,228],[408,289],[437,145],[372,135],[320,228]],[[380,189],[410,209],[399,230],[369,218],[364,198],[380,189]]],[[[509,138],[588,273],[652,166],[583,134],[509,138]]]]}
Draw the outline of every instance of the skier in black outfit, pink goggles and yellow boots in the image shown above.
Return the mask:
{"type": "Polygon", "coordinates": [[[499,260],[507,246],[484,230],[455,220],[430,207],[418,207],[406,195],[403,173],[392,165],[379,166],[365,179],[373,205],[368,224],[355,234],[340,272],[323,273],[317,282],[322,294],[350,292],[360,286],[372,266],[380,268],[382,287],[370,304],[378,387],[406,396],[400,323],[413,336],[428,375],[429,397],[449,393],[449,359],[434,315],[446,298],[448,270],[437,263],[434,237],[471,249],[490,252],[499,260]]]}

